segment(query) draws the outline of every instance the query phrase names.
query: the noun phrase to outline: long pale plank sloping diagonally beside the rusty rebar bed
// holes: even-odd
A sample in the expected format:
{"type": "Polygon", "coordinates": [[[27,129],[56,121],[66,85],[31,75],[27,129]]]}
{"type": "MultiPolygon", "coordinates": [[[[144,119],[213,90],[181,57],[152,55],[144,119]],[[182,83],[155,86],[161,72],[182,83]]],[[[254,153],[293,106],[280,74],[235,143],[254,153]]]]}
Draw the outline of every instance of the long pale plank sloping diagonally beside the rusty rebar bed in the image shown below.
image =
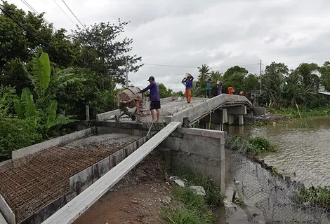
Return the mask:
{"type": "Polygon", "coordinates": [[[110,190],[110,188],[112,188],[121,178],[130,172],[133,167],[138,165],[141,160],[151,153],[154,148],[161,144],[164,139],[169,137],[169,134],[176,130],[180,124],[180,122],[172,122],[164,127],[164,129],[143,144],[143,146],[129,155],[125,160],[119,163],[119,165],[111,169],[110,172],[107,172],[107,174],[98,179],[98,181],[93,183],[80,195],[65,204],[64,207],[44,221],[43,224],[73,223],[81,214],[84,214],[89,207],[99,200],[100,197],[107,193],[107,191],[110,190]]]}

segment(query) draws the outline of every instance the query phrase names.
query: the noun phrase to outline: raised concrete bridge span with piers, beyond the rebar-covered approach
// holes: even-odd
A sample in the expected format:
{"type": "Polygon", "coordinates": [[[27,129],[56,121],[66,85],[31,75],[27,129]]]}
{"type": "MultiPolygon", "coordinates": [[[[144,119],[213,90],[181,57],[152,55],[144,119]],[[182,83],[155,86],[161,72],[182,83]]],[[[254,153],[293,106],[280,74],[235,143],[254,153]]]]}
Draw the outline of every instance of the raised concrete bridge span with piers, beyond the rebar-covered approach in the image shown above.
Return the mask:
{"type": "MultiPolygon", "coordinates": [[[[178,97],[177,97],[178,98],[178,97]]],[[[183,118],[188,118],[190,125],[194,123],[207,123],[206,117],[211,117],[213,113],[212,123],[223,125],[228,123],[232,125],[234,117],[239,117],[239,125],[244,125],[243,117],[253,109],[249,99],[239,95],[220,94],[211,99],[192,98],[192,102],[187,104],[185,99],[173,101],[172,97],[161,99],[161,120],[169,124],[173,121],[183,122],[183,118]],[[204,118],[204,119],[203,119],[204,118]],[[221,119],[219,119],[221,118],[221,119]]],[[[98,121],[114,120],[114,116],[119,116],[120,111],[114,110],[106,113],[101,113],[96,116],[98,121]]],[[[141,118],[143,122],[150,122],[151,116],[141,118]]],[[[131,122],[130,119],[124,119],[126,122],[131,122]]],[[[220,126],[221,127],[221,126],[220,126]]],[[[219,128],[220,128],[219,127],[219,128]]]]}

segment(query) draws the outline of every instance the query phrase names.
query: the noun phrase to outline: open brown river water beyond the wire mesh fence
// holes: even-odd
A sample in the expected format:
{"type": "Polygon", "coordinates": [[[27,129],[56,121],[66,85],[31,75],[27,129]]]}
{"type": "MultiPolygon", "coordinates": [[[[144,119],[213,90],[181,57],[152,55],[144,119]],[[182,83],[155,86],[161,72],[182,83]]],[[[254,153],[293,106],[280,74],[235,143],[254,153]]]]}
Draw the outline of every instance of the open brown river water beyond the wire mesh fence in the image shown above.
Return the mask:
{"type": "Polygon", "coordinates": [[[243,132],[253,137],[268,137],[277,144],[277,153],[267,153],[260,158],[279,167],[284,174],[300,176],[299,180],[305,184],[330,185],[330,116],[293,119],[260,127],[226,128],[228,134],[243,132]],[[301,122],[308,127],[301,128],[301,122]]]}

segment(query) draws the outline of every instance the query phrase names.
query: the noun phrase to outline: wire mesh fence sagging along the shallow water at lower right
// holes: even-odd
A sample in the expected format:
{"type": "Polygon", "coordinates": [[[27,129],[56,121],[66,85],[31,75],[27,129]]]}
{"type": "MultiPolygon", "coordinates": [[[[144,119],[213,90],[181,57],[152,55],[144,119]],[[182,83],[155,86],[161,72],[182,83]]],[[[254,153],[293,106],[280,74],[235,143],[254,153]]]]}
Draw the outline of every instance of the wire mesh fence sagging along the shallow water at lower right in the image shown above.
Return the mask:
{"type": "Polygon", "coordinates": [[[244,202],[253,202],[266,223],[330,223],[330,178],[316,166],[286,157],[272,167],[253,158],[244,138],[227,138],[226,164],[244,202]]]}

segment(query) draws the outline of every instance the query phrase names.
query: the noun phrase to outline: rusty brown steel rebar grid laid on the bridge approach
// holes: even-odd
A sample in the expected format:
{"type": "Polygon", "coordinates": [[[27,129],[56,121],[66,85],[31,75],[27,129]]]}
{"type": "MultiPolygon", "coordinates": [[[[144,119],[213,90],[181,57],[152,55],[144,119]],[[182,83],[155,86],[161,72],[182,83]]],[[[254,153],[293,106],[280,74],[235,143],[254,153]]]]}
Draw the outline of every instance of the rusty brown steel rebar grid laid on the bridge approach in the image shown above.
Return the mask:
{"type": "MultiPolygon", "coordinates": [[[[128,144],[125,144],[128,145],[128,144]]],[[[69,191],[69,178],[125,146],[48,148],[0,167],[0,194],[18,221],[69,191]]]]}

